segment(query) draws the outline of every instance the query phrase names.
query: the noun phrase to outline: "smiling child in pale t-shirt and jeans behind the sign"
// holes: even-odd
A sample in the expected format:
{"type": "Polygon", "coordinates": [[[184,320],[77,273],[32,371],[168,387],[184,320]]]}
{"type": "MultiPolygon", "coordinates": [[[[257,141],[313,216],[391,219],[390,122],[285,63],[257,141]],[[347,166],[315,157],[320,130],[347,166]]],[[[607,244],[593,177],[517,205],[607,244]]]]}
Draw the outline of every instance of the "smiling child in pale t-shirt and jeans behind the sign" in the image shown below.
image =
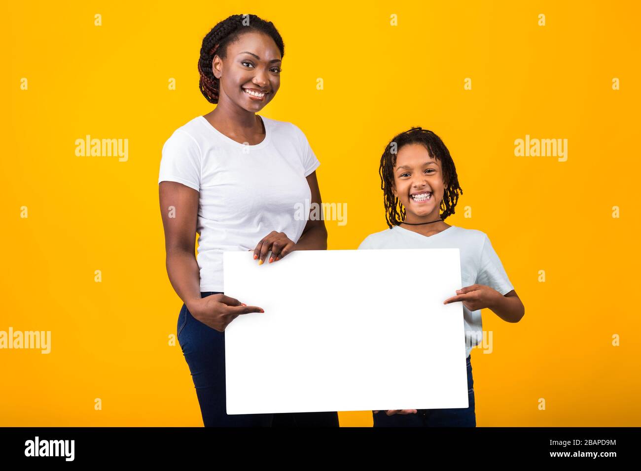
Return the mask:
{"type": "Polygon", "coordinates": [[[359,249],[460,249],[464,288],[444,304],[463,302],[469,407],[373,411],[374,427],[476,427],[470,350],[482,336],[481,309],[519,322],[524,306],[488,236],[445,223],[463,190],[454,161],[435,133],[412,128],[395,136],[381,157],[379,174],[389,229],[370,234],[359,249]]]}

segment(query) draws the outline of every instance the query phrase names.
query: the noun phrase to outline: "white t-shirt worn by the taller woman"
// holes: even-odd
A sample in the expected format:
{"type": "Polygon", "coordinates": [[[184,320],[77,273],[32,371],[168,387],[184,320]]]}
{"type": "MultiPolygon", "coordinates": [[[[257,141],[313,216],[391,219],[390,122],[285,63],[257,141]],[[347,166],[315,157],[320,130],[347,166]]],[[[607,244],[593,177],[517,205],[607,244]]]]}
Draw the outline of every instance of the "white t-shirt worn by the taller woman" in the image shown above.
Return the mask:
{"type": "Polygon", "coordinates": [[[163,145],[158,183],[177,181],[200,193],[201,292],[224,291],[223,251],[253,250],[271,231],[298,242],[307,222],[295,208],[309,207],[306,176],[320,162],[296,125],[260,117],[265,138],[256,145],[236,142],[203,116],[176,129],[163,145]]]}

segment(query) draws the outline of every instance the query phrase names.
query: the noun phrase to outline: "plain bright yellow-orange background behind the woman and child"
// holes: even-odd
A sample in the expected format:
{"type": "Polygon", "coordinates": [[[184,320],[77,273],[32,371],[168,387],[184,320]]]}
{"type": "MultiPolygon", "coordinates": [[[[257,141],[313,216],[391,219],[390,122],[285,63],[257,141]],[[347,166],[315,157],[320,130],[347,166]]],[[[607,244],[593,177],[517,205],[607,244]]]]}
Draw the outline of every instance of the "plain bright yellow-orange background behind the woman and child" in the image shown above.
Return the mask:
{"type": "MultiPolygon", "coordinates": [[[[285,41],[261,114],[303,129],[323,201],[347,202],[346,226],[327,221],[329,249],[387,229],[378,165],[392,136],[423,126],[449,147],[463,195],[447,222],[488,234],[526,306],[517,324],[483,311],[494,351],[472,350],[478,426],[638,426],[638,6],[254,5],[3,3],[0,330],[50,330],[52,350],[0,351],[0,426],[202,426],[168,345],[182,302],[158,166],[172,131],[213,109],[197,58],[235,13],[273,21],[285,41]],[[128,138],[129,160],[76,157],[87,134],[128,138]],[[526,134],[567,138],[567,161],[516,157],[526,134]]],[[[398,295],[407,274],[393,275],[398,295]]],[[[370,426],[371,413],[340,423],[370,426]]]]}

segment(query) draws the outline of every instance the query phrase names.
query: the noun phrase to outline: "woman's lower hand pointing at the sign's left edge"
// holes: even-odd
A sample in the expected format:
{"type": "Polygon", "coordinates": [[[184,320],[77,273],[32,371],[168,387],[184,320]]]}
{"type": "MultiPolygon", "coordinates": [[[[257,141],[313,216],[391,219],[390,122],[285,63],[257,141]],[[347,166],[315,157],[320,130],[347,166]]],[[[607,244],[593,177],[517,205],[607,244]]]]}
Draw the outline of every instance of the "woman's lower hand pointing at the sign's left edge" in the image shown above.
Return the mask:
{"type": "Polygon", "coordinates": [[[187,309],[196,320],[219,332],[224,332],[229,322],[241,314],[265,312],[258,306],[247,306],[247,304],[238,301],[238,299],[222,293],[196,299],[190,302],[187,309]]]}

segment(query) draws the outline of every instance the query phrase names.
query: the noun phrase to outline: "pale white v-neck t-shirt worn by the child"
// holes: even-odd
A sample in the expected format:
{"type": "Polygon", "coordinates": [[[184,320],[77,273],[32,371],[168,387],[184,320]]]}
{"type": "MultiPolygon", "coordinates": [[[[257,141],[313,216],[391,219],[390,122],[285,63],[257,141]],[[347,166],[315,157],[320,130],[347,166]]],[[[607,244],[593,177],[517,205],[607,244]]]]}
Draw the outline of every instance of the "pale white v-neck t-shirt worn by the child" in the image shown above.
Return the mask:
{"type": "MultiPolygon", "coordinates": [[[[514,289],[490,239],[476,229],[450,226],[427,237],[410,229],[394,226],[365,237],[358,249],[460,249],[462,287],[486,285],[502,295],[514,289]]],[[[456,292],[452,296],[456,296],[456,292]]],[[[481,310],[470,311],[463,305],[463,325],[467,357],[472,347],[483,340],[481,310]]]]}

